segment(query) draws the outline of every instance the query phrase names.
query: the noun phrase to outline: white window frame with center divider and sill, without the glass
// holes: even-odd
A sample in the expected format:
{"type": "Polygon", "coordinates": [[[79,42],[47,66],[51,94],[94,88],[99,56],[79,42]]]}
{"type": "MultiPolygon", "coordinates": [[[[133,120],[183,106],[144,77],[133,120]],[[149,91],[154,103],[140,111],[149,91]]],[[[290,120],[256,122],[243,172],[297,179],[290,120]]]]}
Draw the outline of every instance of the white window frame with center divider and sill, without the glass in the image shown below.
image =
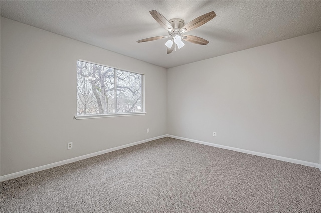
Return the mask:
{"type": "MultiPolygon", "coordinates": [[[[92,119],[92,118],[106,118],[106,117],[123,117],[123,116],[137,116],[137,115],[146,115],[146,111],[145,111],[145,74],[144,73],[138,73],[138,72],[133,72],[130,70],[126,70],[126,69],[120,69],[117,67],[113,67],[113,66],[108,66],[108,65],[104,65],[104,64],[99,64],[96,62],[91,62],[91,61],[86,61],[86,60],[82,60],[82,59],[77,59],[77,61],[81,61],[81,62],[86,62],[86,63],[90,63],[90,64],[96,64],[96,65],[100,65],[100,66],[104,66],[104,67],[109,67],[109,68],[113,68],[115,69],[115,83],[116,83],[116,71],[125,71],[125,72],[130,72],[130,73],[135,73],[135,74],[139,74],[141,75],[141,108],[142,108],[142,112],[126,112],[126,113],[117,113],[116,112],[116,104],[117,104],[117,90],[115,89],[115,113],[110,113],[110,114],[91,114],[91,115],[76,115],[74,116],[74,118],[76,120],[82,120],[82,119],[92,119]]],[[[76,63],[77,64],[77,63],[76,63]]],[[[76,82],[77,85],[78,82],[76,82]]],[[[117,83],[116,83],[117,84],[117,83]]],[[[116,85],[115,85],[116,87],[116,85]]],[[[77,95],[76,95],[77,97],[77,95]]],[[[76,101],[76,105],[77,105],[77,101],[76,101]]],[[[77,111],[77,110],[76,110],[77,111]]]]}

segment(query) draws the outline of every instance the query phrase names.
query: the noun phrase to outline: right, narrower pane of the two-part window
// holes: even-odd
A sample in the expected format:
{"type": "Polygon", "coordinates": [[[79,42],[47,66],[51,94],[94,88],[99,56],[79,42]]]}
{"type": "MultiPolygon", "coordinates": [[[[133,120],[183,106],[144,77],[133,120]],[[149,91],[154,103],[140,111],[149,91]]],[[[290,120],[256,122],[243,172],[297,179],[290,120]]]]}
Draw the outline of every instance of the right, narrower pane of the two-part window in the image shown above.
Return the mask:
{"type": "Polygon", "coordinates": [[[117,70],[117,112],[142,112],[142,75],[117,70]]]}

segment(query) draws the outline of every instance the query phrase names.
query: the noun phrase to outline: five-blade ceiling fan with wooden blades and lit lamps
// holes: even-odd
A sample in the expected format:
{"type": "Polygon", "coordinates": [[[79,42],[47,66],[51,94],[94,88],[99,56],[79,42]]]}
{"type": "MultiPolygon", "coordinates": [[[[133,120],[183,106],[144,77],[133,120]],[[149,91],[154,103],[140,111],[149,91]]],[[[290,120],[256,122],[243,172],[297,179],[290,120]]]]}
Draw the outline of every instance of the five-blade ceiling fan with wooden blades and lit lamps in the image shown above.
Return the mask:
{"type": "Polygon", "coordinates": [[[203,38],[200,38],[197,36],[191,36],[191,35],[183,35],[183,33],[186,33],[190,30],[200,27],[201,25],[204,25],[205,23],[213,19],[216,16],[214,11],[203,14],[202,16],[199,16],[193,19],[191,22],[187,23],[186,25],[184,25],[184,21],[182,19],[174,18],[174,19],[167,20],[165,19],[164,16],[162,16],[162,14],[158,13],[155,10],[149,11],[149,13],[163,28],[165,28],[165,30],[168,31],[169,35],[155,36],[155,37],[150,37],[146,39],[141,39],[137,41],[138,43],[170,38],[165,43],[165,45],[167,46],[168,54],[172,53],[176,45],[179,49],[184,46],[182,39],[188,42],[192,42],[194,44],[199,44],[199,45],[206,45],[207,43],[209,43],[209,41],[203,38]]]}

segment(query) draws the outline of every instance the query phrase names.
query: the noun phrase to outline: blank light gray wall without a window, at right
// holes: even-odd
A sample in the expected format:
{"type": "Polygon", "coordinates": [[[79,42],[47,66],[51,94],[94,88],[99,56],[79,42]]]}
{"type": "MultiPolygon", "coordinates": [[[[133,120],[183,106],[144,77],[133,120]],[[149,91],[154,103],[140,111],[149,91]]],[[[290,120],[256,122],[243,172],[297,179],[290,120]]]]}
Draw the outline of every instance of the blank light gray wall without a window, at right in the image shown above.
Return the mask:
{"type": "Polygon", "coordinates": [[[320,60],[317,32],[170,68],[168,134],[319,163],[320,60]]]}

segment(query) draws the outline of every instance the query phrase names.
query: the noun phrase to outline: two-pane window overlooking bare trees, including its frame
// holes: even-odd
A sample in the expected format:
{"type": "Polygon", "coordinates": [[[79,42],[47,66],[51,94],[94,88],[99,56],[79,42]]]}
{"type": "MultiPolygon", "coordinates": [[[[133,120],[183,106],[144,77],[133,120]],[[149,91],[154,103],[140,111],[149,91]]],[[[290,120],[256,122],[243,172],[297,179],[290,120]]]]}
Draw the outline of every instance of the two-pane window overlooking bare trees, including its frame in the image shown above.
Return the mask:
{"type": "Polygon", "coordinates": [[[143,74],[77,60],[77,115],[145,114],[143,74]]]}

